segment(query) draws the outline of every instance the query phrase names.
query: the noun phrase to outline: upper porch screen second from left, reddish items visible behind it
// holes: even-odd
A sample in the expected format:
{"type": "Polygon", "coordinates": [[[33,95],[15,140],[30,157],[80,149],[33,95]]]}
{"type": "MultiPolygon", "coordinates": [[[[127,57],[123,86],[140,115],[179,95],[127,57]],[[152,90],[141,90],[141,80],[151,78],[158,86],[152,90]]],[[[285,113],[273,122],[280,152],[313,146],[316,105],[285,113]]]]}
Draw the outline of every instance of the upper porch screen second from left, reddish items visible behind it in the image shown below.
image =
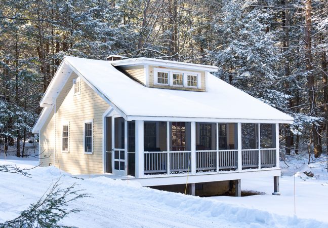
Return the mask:
{"type": "Polygon", "coordinates": [[[191,124],[186,122],[171,122],[171,151],[191,150],[191,124]]]}

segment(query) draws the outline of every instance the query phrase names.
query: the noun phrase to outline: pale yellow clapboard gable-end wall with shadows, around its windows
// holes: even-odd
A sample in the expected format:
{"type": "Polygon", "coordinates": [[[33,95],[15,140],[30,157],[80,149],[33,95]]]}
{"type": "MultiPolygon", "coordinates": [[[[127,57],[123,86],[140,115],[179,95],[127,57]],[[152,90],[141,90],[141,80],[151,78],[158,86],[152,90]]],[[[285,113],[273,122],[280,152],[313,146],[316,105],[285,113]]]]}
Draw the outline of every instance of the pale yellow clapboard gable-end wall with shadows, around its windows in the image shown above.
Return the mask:
{"type": "MultiPolygon", "coordinates": [[[[104,173],[103,170],[103,118],[102,115],[109,108],[92,88],[81,80],[80,94],[73,95],[73,79],[78,78],[73,72],[66,85],[56,99],[56,113],[52,118],[56,120],[55,166],[71,174],[104,173]],[[84,153],[84,124],[86,120],[93,120],[93,154],[84,153]],[[69,125],[68,153],[62,151],[62,126],[69,125]]],[[[52,130],[54,122],[45,125],[52,130]]],[[[44,144],[45,133],[41,133],[44,144]]],[[[53,136],[54,137],[54,133],[53,136]]],[[[53,164],[52,164],[53,165],[53,164]]]]}

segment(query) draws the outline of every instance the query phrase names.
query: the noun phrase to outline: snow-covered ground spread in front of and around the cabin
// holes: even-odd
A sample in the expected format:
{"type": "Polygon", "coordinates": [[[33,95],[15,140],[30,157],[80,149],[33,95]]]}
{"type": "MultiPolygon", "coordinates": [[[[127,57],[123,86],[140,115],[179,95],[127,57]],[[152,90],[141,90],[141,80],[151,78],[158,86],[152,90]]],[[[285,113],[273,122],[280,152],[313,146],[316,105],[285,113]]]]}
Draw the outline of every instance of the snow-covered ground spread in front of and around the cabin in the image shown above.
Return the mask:
{"type": "MultiPolygon", "coordinates": [[[[0,172],[0,223],[15,218],[35,203],[62,175],[62,187],[73,183],[91,194],[69,208],[82,211],[70,214],[63,225],[78,227],[328,227],[328,174],[325,159],[311,165],[298,165],[305,158],[282,162],[281,196],[272,196],[273,179],[242,180],[242,191],[264,195],[249,197],[199,198],[141,187],[137,183],[112,180],[105,176],[76,179],[54,167],[37,167],[31,178],[0,172]],[[314,173],[313,178],[303,174],[314,173]],[[294,177],[296,173],[296,215],[294,177]]],[[[37,165],[36,159],[0,157],[1,164],[21,168],[37,165]]],[[[84,176],[85,177],[85,176],[84,176]]]]}

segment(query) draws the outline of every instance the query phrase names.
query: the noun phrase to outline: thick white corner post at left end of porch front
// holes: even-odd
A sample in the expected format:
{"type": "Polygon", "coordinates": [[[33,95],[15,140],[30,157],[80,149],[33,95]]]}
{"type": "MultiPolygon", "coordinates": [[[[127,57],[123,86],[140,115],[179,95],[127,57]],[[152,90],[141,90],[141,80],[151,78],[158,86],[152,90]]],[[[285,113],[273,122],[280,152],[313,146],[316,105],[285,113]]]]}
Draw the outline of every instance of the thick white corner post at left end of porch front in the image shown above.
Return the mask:
{"type": "Polygon", "coordinates": [[[144,156],[143,156],[143,136],[144,123],[136,120],[136,177],[141,178],[144,174],[144,156]]]}

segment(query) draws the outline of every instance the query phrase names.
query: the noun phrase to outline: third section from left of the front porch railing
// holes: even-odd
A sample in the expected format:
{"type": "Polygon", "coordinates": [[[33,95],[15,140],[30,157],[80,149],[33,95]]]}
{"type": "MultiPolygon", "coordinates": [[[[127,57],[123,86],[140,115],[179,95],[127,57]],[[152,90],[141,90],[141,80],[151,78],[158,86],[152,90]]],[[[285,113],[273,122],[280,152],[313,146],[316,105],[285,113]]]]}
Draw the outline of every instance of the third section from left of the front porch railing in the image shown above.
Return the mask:
{"type": "Polygon", "coordinates": [[[215,172],[217,170],[217,151],[196,151],[196,172],[215,172]]]}

